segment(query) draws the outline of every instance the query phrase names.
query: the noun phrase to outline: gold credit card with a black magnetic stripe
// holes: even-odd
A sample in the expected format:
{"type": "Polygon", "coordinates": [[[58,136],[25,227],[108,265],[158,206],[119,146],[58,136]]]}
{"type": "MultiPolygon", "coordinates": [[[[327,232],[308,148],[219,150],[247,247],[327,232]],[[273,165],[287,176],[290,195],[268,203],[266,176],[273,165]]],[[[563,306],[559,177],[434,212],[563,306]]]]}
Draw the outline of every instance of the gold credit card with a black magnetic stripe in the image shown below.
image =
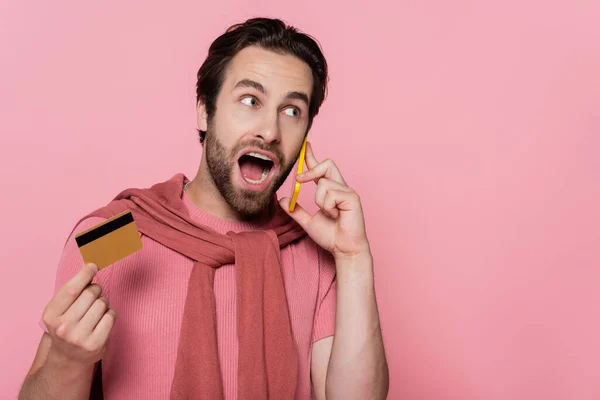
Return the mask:
{"type": "Polygon", "coordinates": [[[122,212],[77,234],[75,241],[83,261],[95,264],[98,270],[142,248],[142,239],[131,211],[122,212]]]}

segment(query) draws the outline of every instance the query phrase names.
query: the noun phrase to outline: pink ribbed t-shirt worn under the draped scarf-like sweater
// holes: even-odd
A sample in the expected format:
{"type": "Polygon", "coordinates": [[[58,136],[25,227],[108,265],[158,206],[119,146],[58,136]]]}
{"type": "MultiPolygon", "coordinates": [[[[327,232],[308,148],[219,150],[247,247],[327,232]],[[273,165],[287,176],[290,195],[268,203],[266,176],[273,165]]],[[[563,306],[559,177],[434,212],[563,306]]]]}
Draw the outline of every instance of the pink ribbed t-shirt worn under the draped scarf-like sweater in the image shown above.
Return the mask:
{"type": "MultiPolygon", "coordinates": [[[[259,225],[225,221],[204,213],[185,193],[183,202],[195,222],[222,234],[261,229],[259,225]]],[[[69,237],[58,265],[55,293],[83,265],[73,236],[102,221],[88,218],[69,237]]],[[[145,235],[142,243],[142,250],[103,269],[94,279],[117,314],[102,360],[102,386],[107,400],[167,399],[170,393],[193,261],[145,235]]],[[[308,237],[283,248],[281,261],[299,355],[296,398],[311,399],[311,346],[332,336],[335,329],[335,264],[331,255],[308,237]]],[[[216,270],[214,291],[225,398],[236,399],[238,340],[233,264],[216,270]]]]}

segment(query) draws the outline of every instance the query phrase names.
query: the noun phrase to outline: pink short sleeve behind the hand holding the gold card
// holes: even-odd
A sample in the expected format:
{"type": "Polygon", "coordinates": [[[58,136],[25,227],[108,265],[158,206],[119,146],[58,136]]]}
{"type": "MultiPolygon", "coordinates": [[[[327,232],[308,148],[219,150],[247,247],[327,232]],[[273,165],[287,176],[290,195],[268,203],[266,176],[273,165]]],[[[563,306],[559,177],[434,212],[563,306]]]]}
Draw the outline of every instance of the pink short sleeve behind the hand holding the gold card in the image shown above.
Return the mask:
{"type": "MultiPolygon", "coordinates": [[[[73,229],[73,233],[69,236],[67,242],[65,243],[63,252],[58,262],[58,266],[56,268],[56,276],[54,279],[54,290],[52,292],[52,296],[56,295],[60,288],[63,287],[64,284],[67,283],[83,267],[83,258],[81,256],[81,253],[79,252],[77,242],[75,242],[75,235],[104,221],[106,221],[105,218],[90,217],[84,219],[78,225],[75,226],[75,228],[73,229]]],[[[102,269],[102,271],[99,271],[92,280],[93,283],[97,283],[102,287],[102,295],[108,299],[110,299],[110,288],[108,285],[109,271],[110,268],[102,269]]],[[[48,328],[41,319],[39,321],[39,324],[40,327],[47,333],[48,328]]]]}

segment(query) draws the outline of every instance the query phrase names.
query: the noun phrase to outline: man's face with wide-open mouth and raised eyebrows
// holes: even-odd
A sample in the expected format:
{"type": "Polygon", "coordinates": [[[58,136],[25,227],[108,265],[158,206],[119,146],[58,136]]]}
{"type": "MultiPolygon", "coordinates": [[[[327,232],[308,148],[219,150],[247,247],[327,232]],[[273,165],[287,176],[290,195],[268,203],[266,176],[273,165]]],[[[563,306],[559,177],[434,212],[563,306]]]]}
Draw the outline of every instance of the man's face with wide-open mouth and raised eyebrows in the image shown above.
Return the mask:
{"type": "Polygon", "coordinates": [[[294,56],[247,47],[224,77],[210,124],[199,105],[198,128],[207,131],[206,163],[219,192],[252,217],[268,206],[296,162],[308,127],[312,72],[294,56]]]}

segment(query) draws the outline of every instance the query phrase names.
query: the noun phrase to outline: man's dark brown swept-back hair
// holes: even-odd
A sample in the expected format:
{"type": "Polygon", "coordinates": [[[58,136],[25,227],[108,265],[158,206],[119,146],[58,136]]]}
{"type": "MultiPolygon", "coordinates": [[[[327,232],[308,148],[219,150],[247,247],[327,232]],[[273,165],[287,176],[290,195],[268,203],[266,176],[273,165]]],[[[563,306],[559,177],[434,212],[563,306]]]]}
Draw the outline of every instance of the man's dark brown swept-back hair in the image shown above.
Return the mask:
{"type": "MultiPolygon", "coordinates": [[[[252,18],[231,26],[211,44],[208,56],[198,70],[196,103],[206,107],[210,121],[216,109],[216,99],[224,81],[224,72],[231,59],[248,46],[258,46],[280,54],[290,54],[308,64],[313,74],[313,88],[308,110],[308,129],[325,100],[327,93],[327,62],[317,42],[279,19],[252,18]]],[[[199,131],[200,143],[206,131],[199,131]]]]}

